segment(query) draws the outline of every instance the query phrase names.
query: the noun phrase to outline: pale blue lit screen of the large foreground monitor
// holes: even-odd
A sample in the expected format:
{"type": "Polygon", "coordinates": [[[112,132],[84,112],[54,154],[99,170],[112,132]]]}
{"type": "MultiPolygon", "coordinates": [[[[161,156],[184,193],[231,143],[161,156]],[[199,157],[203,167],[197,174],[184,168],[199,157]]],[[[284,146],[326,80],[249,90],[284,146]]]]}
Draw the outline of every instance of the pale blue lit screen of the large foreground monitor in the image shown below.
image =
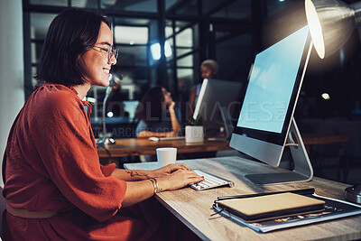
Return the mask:
{"type": "Polygon", "coordinates": [[[282,133],[307,34],[304,27],[256,55],[236,126],[282,133]]]}

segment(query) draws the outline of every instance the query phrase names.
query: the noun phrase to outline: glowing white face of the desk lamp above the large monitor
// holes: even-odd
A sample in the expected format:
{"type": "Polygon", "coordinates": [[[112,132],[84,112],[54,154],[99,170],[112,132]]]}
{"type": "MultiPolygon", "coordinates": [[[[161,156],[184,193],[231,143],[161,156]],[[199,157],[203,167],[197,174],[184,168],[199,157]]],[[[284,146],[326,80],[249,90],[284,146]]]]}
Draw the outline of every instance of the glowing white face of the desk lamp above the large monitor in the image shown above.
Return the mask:
{"type": "Polygon", "coordinates": [[[319,23],[319,16],[316,11],[315,5],[311,2],[311,0],[306,0],[305,2],[306,8],[306,17],[307,22],[309,23],[310,28],[310,36],[312,37],[313,45],[317,53],[319,54],[319,58],[325,58],[325,43],[322,35],[322,27],[321,23],[319,23]]]}

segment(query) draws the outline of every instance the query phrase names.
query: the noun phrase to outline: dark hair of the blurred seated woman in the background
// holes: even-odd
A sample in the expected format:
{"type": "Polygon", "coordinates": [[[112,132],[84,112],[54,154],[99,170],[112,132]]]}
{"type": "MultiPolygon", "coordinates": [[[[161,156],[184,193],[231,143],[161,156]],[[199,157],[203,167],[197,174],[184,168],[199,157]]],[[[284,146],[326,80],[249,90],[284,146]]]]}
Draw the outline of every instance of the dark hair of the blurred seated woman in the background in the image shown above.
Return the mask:
{"type": "Polygon", "coordinates": [[[135,117],[143,120],[146,124],[159,123],[164,114],[163,105],[164,94],[162,87],[153,87],[148,89],[143,98],[136,107],[135,117]]]}

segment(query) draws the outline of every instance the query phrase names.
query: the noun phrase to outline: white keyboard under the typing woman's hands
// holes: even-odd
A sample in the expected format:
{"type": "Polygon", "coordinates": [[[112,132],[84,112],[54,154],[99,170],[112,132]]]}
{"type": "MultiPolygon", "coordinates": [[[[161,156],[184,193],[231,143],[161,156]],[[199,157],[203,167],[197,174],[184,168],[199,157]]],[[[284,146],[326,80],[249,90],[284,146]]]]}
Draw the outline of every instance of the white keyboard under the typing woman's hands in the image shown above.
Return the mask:
{"type": "Polygon", "coordinates": [[[200,171],[200,170],[193,170],[193,171],[199,174],[199,176],[204,177],[204,181],[190,184],[190,188],[194,190],[208,190],[222,186],[229,186],[229,187],[235,186],[235,183],[233,181],[220,178],[208,172],[200,171]]]}

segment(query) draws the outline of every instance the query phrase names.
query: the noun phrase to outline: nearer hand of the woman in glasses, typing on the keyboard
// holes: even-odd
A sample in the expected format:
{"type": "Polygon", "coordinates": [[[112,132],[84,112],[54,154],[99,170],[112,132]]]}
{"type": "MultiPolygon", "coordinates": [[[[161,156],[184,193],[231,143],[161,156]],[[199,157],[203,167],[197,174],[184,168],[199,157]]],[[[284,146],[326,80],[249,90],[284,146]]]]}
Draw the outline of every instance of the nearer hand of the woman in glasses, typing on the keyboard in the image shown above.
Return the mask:
{"type": "Polygon", "coordinates": [[[167,177],[157,178],[157,181],[159,191],[178,190],[190,183],[204,181],[204,177],[199,177],[194,171],[178,170],[171,172],[171,175],[168,175],[167,177]]]}

